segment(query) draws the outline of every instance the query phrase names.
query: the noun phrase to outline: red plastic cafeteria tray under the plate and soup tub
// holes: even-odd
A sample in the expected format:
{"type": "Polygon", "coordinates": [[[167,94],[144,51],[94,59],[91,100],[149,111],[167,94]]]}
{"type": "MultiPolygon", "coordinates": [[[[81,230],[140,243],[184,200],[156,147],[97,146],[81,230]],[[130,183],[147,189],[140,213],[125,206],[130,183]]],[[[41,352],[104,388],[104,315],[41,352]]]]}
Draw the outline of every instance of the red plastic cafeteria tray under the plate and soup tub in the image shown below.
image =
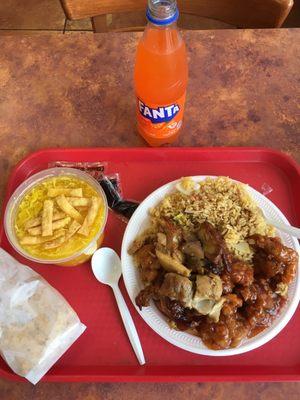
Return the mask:
{"type": "MultiPolygon", "coordinates": [[[[126,198],[143,200],[157,187],[185,175],[227,175],[262,191],[292,224],[300,224],[300,172],[288,156],[263,148],[51,149],[34,153],[14,169],[7,197],[48,162],[108,161],[119,172],[126,198]]],[[[109,216],[104,245],[120,251],[125,224],[109,216]]],[[[77,311],[87,330],[44,377],[45,381],[279,381],[300,380],[300,312],[263,347],[232,357],[185,352],[160,338],[139,317],[123,283],[144,349],[139,366],[123,328],[111,290],[93,277],[90,265],[57,267],[29,263],[17,255],[0,231],[0,245],[39,272],[77,311]]],[[[0,376],[20,379],[0,360],[0,376]]]]}

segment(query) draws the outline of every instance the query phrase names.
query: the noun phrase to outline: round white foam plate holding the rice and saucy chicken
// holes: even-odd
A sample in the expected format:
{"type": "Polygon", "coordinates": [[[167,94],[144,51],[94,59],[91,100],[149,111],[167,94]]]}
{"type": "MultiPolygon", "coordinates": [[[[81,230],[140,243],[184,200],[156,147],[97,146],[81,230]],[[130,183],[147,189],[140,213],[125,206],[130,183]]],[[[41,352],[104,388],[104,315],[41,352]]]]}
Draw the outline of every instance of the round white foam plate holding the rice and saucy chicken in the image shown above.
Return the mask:
{"type": "MultiPolygon", "coordinates": [[[[206,176],[194,176],[197,182],[205,179],[206,176]]],[[[122,271],[125,286],[129,297],[134,304],[136,310],[144,321],[162,338],[172,343],[174,346],[190,351],[192,353],[203,354],[207,356],[230,356],[245,353],[256,349],[273,339],[289,322],[299,303],[300,299],[300,277],[299,268],[295,281],[290,285],[288,293],[288,301],[282,309],[278,318],[273,322],[272,326],[251,339],[245,339],[238,347],[227,350],[211,350],[208,349],[200,338],[185,332],[171,329],[167,323],[167,318],[152,303],[149,307],[144,307],[142,311],[135,304],[135,297],[143,289],[144,285],[141,281],[140,274],[133,262],[133,257],[128,254],[128,248],[132,241],[141,234],[150,225],[149,209],[156,206],[168,193],[175,190],[175,185],[179,180],[167,183],[151,193],[137,208],[131,217],[122,243],[122,271]]],[[[263,209],[268,219],[289,224],[282,212],[265,196],[248,186],[248,190],[252,198],[257,202],[258,206],[263,209]]],[[[289,224],[290,225],[290,224],[289,224]]],[[[278,232],[283,243],[293,248],[299,253],[300,246],[297,239],[278,232]]]]}

